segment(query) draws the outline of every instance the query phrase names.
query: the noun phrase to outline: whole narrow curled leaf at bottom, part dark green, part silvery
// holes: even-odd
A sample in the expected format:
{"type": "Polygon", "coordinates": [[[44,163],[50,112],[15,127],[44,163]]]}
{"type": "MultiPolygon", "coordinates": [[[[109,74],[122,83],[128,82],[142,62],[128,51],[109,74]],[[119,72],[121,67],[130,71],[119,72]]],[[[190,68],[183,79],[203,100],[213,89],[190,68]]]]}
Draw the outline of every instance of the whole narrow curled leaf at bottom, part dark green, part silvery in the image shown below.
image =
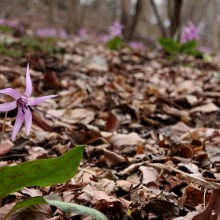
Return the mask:
{"type": "Polygon", "coordinates": [[[88,215],[96,220],[108,220],[108,218],[104,214],[102,214],[101,212],[95,209],[73,203],[45,199],[41,196],[33,197],[17,203],[2,220],[6,220],[10,215],[12,215],[18,209],[25,208],[31,205],[40,205],[40,204],[53,205],[61,209],[63,212],[74,212],[81,215],[88,215]]]}

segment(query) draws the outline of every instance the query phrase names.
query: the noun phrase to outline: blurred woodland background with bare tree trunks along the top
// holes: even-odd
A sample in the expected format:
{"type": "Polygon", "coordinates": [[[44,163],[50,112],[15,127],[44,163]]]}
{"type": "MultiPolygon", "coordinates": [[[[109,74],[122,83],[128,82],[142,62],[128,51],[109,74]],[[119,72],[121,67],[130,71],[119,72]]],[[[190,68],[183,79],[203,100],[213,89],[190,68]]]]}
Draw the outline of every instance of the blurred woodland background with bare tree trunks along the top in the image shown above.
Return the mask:
{"type": "Polygon", "coordinates": [[[104,41],[118,22],[125,40],[155,46],[159,37],[175,37],[193,22],[199,45],[218,52],[219,9],[218,0],[0,0],[0,25],[20,25],[30,35],[59,30],[62,38],[87,35],[104,41]]]}

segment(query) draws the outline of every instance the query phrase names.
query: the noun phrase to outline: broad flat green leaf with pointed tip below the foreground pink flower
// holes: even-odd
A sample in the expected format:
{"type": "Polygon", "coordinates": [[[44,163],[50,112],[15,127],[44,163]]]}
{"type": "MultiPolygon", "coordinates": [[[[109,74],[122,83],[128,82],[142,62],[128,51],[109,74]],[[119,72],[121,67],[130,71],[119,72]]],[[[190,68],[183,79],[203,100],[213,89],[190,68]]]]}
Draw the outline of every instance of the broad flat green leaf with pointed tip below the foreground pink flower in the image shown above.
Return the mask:
{"type": "Polygon", "coordinates": [[[83,155],[78,146],[63,156],[0,168],[0,198],[27,186],[50,186],[71,179],[83,155]]]}

